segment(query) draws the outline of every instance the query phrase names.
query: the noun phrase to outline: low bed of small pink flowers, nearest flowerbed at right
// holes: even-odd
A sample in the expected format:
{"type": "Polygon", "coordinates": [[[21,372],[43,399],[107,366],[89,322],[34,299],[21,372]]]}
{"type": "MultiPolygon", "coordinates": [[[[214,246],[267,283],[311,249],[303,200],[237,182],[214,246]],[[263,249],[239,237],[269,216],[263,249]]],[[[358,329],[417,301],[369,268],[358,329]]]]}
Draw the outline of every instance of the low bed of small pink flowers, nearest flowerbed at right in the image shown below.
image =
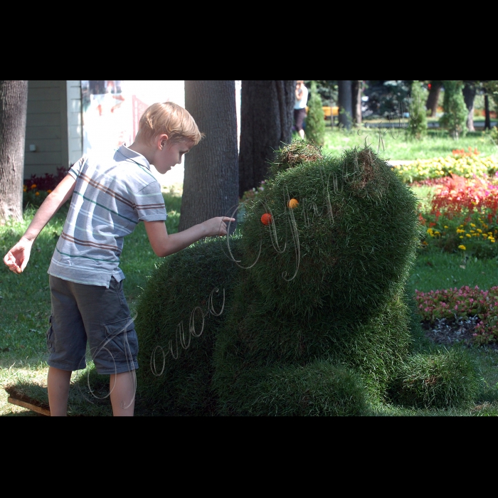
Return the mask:
{"type": "Polygon", "coordinates": [[[465,285],[460,289],[415,290],[415,302],[425,322],[435,324],[442,319],[448,322],[474,319],[473,343],[498,342],[498,287],[480,290],[477,285],[474,288],[465,285]]]}

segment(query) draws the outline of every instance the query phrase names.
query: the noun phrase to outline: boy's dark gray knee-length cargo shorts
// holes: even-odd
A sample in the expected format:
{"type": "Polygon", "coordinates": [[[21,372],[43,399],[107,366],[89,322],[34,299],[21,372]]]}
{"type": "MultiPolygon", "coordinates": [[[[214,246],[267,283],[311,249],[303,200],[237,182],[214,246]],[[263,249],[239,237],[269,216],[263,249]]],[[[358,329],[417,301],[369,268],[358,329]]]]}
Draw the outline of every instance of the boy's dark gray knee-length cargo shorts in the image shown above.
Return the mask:
{"type": "Polygon", "coordinates": [[[98,373],[138,369],[138,339],[123,282],[109,288],[49,277],[52,314],[47,331],[48,365],[60,370],[86,367],[87,342],[98,373]]]}

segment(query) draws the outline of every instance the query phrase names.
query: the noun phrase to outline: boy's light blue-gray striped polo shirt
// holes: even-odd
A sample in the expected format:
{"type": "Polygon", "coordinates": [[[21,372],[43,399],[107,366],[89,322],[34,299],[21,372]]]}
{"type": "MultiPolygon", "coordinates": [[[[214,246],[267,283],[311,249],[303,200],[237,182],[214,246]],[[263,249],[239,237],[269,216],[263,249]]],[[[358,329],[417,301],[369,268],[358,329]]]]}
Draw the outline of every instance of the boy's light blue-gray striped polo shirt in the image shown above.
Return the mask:
{"type": "Polygon", "coordinates": [[[122,145],[108,155],[83,156],[68,171],[76,180],[49,275],[88,285],[120,282],[124,235],[139,221],[164,221],[161,186],[142,154],[122,145]]]}

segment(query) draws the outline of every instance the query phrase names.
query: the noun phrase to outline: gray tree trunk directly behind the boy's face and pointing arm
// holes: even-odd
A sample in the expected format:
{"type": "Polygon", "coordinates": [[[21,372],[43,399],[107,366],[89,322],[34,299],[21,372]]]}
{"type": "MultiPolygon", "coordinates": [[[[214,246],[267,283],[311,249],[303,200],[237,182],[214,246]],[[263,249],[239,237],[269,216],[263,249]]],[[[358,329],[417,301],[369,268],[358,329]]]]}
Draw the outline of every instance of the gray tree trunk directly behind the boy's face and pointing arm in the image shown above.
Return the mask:
{"type": "Polygon", "coordinates": [[[206,137],[185,155],[179,231],[238,206],[235,80],[186,80],[185,108],[206,137]]]}

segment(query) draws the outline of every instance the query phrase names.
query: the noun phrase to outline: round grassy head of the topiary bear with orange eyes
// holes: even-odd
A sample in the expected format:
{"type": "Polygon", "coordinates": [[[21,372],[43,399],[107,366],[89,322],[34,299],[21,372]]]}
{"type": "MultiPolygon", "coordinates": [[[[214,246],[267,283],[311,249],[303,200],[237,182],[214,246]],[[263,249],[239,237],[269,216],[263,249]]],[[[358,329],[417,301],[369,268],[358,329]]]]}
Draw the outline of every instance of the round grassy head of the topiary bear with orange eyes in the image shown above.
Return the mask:
{"type": "Polygon", "coordinates": [[[239,262],[270,309],[369,310],[401,292],[420,238],[417,199],[385,161],[368,147],[325,157],[296,141],[270,171],[248,206],[239,262]]]}

